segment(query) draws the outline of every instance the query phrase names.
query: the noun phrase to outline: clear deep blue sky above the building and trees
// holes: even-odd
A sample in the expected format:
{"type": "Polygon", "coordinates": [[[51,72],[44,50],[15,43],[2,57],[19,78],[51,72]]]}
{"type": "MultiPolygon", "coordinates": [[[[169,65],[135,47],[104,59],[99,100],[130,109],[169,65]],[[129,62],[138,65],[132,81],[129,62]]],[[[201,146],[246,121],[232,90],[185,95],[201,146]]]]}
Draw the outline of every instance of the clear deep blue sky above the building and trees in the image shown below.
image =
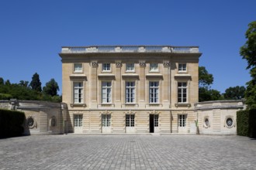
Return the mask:
{"type": "MultiPolygon", "coordinates": [[[[61,83],[61,46],[199,46],[213,89],[245,86],[239,54],[255,0],[1,0],[0,77],[61,83]]],[[[61,91],[59,92],[61,93],[61,91]]]]}

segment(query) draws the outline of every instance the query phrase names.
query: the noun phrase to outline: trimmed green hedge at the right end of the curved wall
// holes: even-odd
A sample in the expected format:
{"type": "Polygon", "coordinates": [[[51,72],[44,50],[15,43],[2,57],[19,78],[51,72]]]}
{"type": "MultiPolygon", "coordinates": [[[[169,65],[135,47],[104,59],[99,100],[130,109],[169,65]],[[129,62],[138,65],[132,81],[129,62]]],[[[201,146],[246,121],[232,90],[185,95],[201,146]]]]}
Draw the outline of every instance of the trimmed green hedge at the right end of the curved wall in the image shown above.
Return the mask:
{"type": "Polygon", "coordinates": [[[237,135],[256,138],[256,109],[237,111],[237,135]]]}

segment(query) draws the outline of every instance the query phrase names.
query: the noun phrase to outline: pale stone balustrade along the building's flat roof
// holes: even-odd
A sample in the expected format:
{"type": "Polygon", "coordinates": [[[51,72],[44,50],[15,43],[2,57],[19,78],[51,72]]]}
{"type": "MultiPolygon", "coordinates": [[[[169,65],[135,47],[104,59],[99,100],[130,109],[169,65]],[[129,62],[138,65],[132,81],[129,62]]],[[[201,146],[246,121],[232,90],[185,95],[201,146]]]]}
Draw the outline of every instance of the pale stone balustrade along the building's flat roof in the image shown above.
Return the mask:
{"type": "Polygon", "coordinates": [[[199,46],[63,46],[61,53],[199,53],[199,46]]]}

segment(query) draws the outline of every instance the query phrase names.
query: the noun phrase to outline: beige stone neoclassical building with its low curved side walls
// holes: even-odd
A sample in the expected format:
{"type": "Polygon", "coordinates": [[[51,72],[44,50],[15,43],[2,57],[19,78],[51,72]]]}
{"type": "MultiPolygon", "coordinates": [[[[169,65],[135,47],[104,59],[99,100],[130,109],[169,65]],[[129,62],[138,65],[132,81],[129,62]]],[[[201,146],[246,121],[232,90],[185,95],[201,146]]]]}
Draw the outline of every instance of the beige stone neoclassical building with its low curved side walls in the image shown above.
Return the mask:
{"type": "Polygon", "coordinates": [[[198,46],[63,46],[63,103],[0,106],[26,113],[27,134],[237,134],[243,100],[199,102],[201,55],[198,46]]]}

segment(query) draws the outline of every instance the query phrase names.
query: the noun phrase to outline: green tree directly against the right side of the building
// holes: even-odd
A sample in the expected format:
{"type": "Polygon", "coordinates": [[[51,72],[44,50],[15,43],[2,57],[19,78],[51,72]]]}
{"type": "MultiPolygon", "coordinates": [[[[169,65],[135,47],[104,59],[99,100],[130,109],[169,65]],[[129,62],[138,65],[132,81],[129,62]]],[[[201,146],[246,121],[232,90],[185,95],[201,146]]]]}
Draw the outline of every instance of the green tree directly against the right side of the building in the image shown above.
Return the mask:
{"type": "Polygon", "coordinates": [[[218,90],[211,89],[213,74],[208,73],[205,66],[199,66],[199,101],[221,100],[218,90]]]}

